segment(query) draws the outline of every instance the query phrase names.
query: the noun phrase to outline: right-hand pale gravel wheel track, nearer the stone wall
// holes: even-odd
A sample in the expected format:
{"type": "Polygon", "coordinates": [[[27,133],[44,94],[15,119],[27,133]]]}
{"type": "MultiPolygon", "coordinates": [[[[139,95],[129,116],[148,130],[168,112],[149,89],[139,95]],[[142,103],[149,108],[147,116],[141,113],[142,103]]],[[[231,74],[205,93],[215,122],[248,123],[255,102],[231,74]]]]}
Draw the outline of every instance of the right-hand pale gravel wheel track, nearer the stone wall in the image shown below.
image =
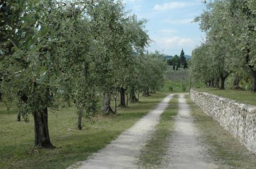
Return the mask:
{"type": "Polygon", "coordinates": [[[175,131],[169,139],[168,161],[166,168],[218,168],[200,142],[184,94],[179,94],[179,110],[175,117],[175,131]]]}

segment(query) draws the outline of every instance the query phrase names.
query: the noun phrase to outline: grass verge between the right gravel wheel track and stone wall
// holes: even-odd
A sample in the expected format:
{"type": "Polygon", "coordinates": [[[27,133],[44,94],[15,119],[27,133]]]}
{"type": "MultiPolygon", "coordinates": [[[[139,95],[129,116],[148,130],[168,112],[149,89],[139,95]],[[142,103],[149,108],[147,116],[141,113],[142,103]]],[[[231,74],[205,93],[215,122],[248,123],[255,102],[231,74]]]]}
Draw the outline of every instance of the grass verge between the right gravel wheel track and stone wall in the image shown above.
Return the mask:
{"type": "Polygon", "coordinates": [[[191,113],[195,117],[209,155],[215,158],[220,168],[256,168],[256,156],[249,152],[238,139],[204,114],[187,96],[187,103],[191,106],[191,113]]]}

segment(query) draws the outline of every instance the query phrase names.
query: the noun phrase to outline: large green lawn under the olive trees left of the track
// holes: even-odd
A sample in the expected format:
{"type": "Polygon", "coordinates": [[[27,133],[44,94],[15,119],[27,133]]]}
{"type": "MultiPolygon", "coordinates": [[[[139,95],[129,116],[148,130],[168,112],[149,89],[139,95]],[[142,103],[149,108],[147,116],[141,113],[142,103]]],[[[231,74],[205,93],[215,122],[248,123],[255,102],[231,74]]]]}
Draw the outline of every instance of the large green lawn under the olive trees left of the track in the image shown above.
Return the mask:
{"type": "Polygon", "coordinates": [[[92,153],[102,149],[125,129],[130,128],[148,111],[153,109],[167,94],[140,97],[140,102],[118,108],[117,116],[98,115],[93,124],[76,130],[75,108],[49,112],[49,131],[55,150],[31,151],[34,142],[34,124],[17,122],[13,109],[6,111],[0,103],[0,168],[66,168],[86,160],[92,153]]]}

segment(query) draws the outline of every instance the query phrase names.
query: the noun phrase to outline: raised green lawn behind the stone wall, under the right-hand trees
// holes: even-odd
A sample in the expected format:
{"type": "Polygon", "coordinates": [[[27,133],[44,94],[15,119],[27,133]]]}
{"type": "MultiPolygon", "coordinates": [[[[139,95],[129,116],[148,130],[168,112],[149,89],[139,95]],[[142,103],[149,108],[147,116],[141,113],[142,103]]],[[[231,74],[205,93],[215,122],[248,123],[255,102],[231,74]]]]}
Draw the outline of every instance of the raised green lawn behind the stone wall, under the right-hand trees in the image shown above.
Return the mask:
{"type": "Polygon", "coordinates": [[[219,90],[213,88],[194,89],[198,92],[208,92],[214,95],[226,97],[229,99],[237,100],[241,103],[256,105],[256,93],[244,90],[219,90]]]}

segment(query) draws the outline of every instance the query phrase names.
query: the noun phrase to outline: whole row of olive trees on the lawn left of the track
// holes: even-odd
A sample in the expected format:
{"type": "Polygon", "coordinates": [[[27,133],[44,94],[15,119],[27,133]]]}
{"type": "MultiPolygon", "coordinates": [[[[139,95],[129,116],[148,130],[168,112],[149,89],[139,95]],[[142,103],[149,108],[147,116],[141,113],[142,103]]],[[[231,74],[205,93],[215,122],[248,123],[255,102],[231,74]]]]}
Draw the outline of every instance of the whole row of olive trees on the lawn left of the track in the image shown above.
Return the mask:
{"type": "Polygon", "coordinates": [[[161,55],[143,54],[150,43],[145,20],[130,16],[121,1],[4,0],[0,10],[1,94],[18,100],[25,119],[33,115],[35,147],[54,148],[48,108],[59,98],[74,103],[81,129],[82,117],[91,120],[97,111],[98,94],[110,114],[119,91],[136,101],[135,90],[161,85],[161,55]]]}

